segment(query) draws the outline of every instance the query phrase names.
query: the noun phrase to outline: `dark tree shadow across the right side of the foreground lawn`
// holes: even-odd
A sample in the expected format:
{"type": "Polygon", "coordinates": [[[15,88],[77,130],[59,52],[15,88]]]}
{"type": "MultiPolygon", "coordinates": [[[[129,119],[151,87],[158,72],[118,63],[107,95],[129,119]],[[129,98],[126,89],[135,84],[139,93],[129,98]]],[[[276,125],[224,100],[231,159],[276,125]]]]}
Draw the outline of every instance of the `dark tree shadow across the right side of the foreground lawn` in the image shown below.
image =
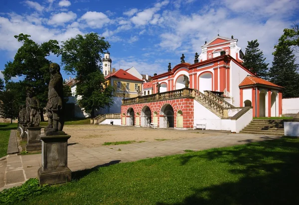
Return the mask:
{"type": "MultiPolygon", "coordinates": [[[[232,166],[234,168],[229,172],[242,177],[237,182],[193,189],[193,194],[182,203],[171,205],[299,204],[299,141],[292,142],[290,139],[292,137],[283,137],[234,149],[211,149],[202,155],[190,153],[182,156],[181,165],[196,157],[237,165],[232,166]]],[[[163,202],[156,204],[170,205],[163,202]]]]}

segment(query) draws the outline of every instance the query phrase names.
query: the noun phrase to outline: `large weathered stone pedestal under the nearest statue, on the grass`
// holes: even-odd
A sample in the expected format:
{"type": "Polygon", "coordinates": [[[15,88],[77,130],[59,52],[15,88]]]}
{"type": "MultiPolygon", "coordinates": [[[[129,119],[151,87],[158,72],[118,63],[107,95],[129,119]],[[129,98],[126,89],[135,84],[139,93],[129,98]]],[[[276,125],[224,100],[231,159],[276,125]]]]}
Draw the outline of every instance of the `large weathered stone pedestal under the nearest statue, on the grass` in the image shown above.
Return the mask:
{"type": "Polygon", "coordinates": [[[41,134],[41,167],[38,169],[40,186],[71,181],[71,170],[67,167],[67,140],[71,135],[63,131],[41,134]]]}

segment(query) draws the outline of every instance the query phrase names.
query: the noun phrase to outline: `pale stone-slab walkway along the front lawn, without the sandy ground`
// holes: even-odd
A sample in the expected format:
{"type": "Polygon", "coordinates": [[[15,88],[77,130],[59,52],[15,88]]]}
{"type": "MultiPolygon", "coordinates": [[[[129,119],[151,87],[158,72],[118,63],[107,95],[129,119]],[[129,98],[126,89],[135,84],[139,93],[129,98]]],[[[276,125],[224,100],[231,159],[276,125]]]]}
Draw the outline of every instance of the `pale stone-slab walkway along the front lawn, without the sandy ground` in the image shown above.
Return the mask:
{"type": "MultiPolygon", "coordinates": [[[[266,136],[253,134],[232,134],[195,137],[133,143],[125,145],[110,145],[86,148],[76,144],[68,147],[68,167],[72,172],[91,169],[111,163],[137,161],[156,156],[166,156],[185,153],[183,150],[204,150],[217,147],[246,144],[255,141],[277,139],[281,136],[266,136]],[[120,149],[120,150],[119,150],[120,149]]],[[[7,155],[0,159],[0,191],[13,186],[19,186],[30,178],[37,177],[41,166],[41,154],[7,155]],[[4,169],[5,168],[5,169],[4,169]],[[2,180],[1,180],[2,179],[2,180]]]]}

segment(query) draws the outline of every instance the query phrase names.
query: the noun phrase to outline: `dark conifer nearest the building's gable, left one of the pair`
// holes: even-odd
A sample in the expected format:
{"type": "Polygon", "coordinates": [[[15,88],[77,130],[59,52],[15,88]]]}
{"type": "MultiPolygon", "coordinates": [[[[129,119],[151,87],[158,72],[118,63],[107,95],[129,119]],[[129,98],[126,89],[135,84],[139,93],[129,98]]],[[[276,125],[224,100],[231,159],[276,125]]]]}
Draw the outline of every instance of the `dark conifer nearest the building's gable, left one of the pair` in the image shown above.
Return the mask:
{"type": "Polygon", "coordinates": [[[260,78],[267,79],[269,63],[265,63],[263,52],[259,49],[258,40],[248,41],[243,65],[260,78]]]}

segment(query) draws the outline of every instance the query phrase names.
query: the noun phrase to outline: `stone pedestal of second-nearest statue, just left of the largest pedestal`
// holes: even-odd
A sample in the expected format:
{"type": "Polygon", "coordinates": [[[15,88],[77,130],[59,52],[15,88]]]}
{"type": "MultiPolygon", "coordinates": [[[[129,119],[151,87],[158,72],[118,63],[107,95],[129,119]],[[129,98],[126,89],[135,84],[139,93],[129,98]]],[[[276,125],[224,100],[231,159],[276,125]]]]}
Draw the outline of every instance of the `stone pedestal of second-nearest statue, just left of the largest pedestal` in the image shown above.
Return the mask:
{"type": "Polygon", "coordinates": [[[26,151],[41,150],[40,129],[42,127],[27,127],[28,137],[26,151]]]}

